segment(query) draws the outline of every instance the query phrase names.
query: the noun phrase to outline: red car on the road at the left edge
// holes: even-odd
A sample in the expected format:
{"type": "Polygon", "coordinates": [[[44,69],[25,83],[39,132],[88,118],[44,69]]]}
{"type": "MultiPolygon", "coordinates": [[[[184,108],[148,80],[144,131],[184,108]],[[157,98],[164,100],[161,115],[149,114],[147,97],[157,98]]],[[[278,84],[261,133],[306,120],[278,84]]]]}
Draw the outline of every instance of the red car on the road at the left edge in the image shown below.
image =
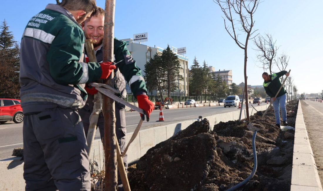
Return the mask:
{"type": "Polygon", "coordinates": [[[0,123],[14,121],[21,123],[24,118],[20,100],[0,98],[0,123]]]}

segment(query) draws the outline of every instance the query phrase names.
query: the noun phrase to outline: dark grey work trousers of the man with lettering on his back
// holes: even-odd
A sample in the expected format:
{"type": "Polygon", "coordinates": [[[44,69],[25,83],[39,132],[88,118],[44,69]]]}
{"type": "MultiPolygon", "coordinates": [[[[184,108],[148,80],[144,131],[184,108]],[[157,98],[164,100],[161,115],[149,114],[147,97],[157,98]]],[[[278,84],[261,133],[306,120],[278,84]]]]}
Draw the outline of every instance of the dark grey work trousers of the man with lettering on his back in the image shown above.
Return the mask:
{"type": "Polygon", "coordinates": [[[27,113],[23,139],[26,191],[90,191],[87,144],[77,111],[57,107],[27,113]]]}

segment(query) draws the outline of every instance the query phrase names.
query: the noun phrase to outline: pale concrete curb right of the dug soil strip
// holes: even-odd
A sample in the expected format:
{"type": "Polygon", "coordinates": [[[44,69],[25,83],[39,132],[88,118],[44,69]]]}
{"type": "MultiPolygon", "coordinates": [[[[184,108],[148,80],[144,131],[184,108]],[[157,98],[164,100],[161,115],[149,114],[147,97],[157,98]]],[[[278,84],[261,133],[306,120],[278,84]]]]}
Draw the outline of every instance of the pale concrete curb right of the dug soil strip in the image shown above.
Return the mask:
{"type": "Polygon", "coordinates": [[[315,164],[313,151],[309,143],[300,101],[298,101],[295,124],[292,181],[290,190],[322,191],[322,185],[315,164]]]}

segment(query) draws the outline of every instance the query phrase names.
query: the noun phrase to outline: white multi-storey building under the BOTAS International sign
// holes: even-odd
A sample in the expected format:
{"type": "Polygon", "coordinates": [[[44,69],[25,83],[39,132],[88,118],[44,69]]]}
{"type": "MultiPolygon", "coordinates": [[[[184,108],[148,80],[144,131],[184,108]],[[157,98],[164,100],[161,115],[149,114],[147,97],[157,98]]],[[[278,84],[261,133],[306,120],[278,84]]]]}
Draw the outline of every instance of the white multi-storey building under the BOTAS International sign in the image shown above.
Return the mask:
{"type": "MultiPolygon", "coordinates": [[[[130,51],[130,54],[134,60],[136,60],[137,66],[141,69],[141,74],[145,75],[144,69],[146,62],[150,61],[151,58],[157,53],[158,55],[162,54],[163,48],[159,47],[150,47],[143,44],[133,43],[132,38],[122,39],[127,42],[127,48],[130,51]]],[[[182,70],[180,75],[183,76],[183,80],[179,80],[178,90],[176,90],[175,95],[187,96],[189,87],[188,87],[188,58],[176,54],[178,60],[180,61],[182,70]]],[[[127,92],[130,92],[127,89],[127,92]]]]}

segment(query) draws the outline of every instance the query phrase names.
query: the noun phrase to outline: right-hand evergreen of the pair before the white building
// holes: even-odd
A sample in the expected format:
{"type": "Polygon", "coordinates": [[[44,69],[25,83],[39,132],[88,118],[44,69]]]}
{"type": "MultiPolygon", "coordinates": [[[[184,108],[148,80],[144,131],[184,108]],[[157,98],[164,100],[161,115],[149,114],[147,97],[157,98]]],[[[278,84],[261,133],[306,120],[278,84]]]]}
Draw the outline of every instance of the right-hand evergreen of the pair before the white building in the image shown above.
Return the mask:
{"type": "Polygon", "coordinates": [[[166,87],[168,91],[168,97],[171,97],[171,92],[178,89],[179,81],[183,80],[183,76],[180,75],[181,67],[180,61],[175,53],[169,48],[162,51],[161,55],[162,67],[165,69],[166,74],[166,87]]]}

